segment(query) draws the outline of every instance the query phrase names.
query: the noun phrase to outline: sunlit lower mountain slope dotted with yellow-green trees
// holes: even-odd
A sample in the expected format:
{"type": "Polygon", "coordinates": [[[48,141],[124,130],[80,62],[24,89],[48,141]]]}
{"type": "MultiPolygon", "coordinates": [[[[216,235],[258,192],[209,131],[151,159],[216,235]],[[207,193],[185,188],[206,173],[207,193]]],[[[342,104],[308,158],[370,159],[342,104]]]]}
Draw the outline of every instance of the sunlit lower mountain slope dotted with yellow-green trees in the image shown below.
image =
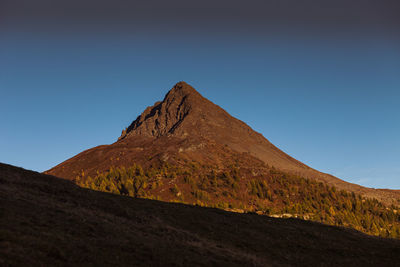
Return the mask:
{"type": "Polygon", "coordinates": [[[163,199],[225,210],[257,212],[273,217],[295,217],[345,226],[381,237],[400,238],[399,208],[376,199],[268,167],[259,175],[231,166],[219,172],[189,163],[167,163],[143,169],[111,168],[108,172],[77,177],[77,184],[135,198],[163,199]]]}

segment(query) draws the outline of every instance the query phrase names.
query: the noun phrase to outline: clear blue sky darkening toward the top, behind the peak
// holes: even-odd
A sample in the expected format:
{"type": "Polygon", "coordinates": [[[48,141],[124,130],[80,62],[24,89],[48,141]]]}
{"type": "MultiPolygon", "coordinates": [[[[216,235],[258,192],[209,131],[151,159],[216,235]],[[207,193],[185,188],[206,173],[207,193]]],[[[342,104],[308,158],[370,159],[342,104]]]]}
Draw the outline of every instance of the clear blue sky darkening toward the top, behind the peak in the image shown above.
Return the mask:
{"type": "Polygon", "coordinates": [[[184,80],[311,167],[400,189],[399,4],[347,2],[2,1],[0,162],[112,143],[184,80]]]}

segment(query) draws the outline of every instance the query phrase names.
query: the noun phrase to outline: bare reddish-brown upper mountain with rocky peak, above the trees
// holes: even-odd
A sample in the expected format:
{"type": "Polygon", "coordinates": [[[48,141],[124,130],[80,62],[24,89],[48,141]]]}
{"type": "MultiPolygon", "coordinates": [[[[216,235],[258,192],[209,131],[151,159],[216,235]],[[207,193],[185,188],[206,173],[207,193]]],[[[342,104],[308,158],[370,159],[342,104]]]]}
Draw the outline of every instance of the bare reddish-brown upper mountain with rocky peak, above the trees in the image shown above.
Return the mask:
{"type": "Polygon", "coordinates": [[[234,152],[249,153],[279,170],[317,179],[386,203],[400,198],[399,191],[365,188],[310,168],[275,147],[185,82],[177,83],[163,101],[148,107],[123,131],[116,143],[84,151],[47,173],[74,179],[82,170],[93,174],[96,170],[130,164],[134,160],[143,163],[154,156],[168,160],[171,154],[175,158],[183,156],[218,163],[223,161],[218,153],[224,147],[234,152]]]}

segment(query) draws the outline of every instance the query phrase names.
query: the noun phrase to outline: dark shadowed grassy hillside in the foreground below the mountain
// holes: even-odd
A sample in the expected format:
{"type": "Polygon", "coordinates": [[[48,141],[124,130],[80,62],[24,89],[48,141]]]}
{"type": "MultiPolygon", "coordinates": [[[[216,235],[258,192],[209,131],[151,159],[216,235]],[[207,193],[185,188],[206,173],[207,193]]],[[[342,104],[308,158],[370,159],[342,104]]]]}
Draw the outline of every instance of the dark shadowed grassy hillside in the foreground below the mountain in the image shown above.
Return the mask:
{"type": "Polygon", "coordinates": [[[134,199],[0,164],[0,265],[396,266],[400,241],[134,199]]]}

